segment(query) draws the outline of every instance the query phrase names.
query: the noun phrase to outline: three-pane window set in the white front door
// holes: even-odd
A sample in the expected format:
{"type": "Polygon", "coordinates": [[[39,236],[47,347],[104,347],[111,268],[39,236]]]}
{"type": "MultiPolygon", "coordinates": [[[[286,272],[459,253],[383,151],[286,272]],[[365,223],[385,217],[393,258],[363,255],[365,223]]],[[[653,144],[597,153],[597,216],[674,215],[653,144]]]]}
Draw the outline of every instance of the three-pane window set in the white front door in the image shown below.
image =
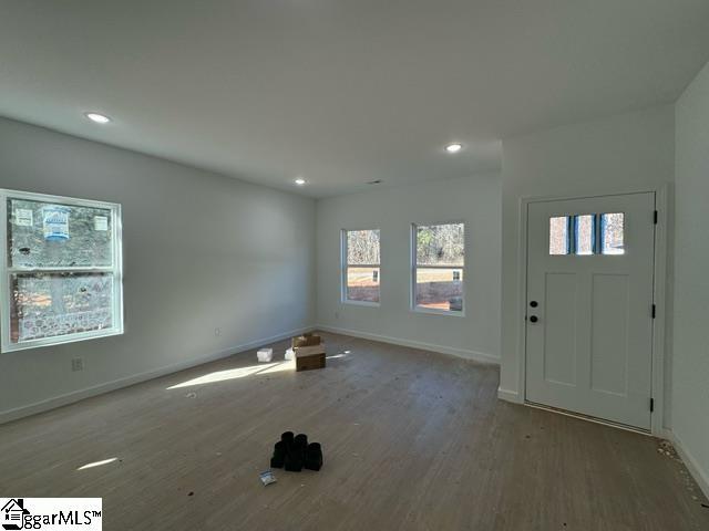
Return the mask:
{"type": "Polygon", "coordinates": [[[549,218],[549,254],[625,253],[625,215],[585,214],[549,218]]]}

